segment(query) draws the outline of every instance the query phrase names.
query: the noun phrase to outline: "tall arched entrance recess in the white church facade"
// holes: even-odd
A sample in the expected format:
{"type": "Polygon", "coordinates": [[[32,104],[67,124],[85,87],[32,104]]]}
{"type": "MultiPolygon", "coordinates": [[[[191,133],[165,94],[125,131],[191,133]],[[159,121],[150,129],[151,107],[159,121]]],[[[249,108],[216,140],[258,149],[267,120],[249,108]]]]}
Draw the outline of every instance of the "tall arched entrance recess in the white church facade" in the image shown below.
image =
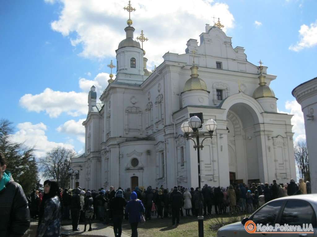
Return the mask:
{"type": "Polygon", "coordinates": [[[226,120],[230,183],[233,174],[236,184],[260,179],[259,154],[262,154],[262,148],[258,146],[261,140],[256,136],[258,114],[249,104],[235,103],[230,106],[226,120]]]}

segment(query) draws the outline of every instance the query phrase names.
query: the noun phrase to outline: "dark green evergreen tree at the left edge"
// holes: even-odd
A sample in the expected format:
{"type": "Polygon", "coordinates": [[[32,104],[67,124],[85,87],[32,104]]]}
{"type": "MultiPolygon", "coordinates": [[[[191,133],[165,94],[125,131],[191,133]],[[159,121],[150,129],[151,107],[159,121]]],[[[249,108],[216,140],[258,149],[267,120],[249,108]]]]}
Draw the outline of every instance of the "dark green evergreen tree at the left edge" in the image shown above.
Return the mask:
{"type": "Polygon", "coordinates": [[[39,185],[34,147],[25,148],[23,143],[12,142],[13,132],[12,122],[0,119],[0,151],[7,159],[7,170],[23,187],[24,192],[28,193],[39,185]]]}

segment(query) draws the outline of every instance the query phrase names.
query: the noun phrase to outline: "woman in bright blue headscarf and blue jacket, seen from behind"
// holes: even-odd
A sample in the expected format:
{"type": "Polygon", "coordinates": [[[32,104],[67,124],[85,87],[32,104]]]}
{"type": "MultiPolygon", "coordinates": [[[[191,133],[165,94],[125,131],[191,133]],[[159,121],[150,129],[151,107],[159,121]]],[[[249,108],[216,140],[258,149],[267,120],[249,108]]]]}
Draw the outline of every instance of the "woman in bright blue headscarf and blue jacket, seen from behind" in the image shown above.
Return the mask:
{"type": "Polygon", "coordinates": [[[137,194],[133,191],[130,201],[126,204],[126,211],[129,213],[129,223],[131,225],[131,237],[138,237],[138,223],[141,220],[141,212],[144,213],[142,202],[137,199],[137,194]]]}

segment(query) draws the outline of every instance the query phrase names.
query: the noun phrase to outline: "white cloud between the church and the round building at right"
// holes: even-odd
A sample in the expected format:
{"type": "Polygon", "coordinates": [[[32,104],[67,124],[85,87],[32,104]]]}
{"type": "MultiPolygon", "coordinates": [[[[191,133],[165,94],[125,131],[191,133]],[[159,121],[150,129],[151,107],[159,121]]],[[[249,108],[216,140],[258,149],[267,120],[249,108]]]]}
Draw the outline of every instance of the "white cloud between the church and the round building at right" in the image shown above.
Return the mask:
{"type": "Polygon", "coordinates": [[[297,103],[296,100],[286,101],[285,108],[288,110],[288,112],[281,113],[290,113],[294,115],[291,119],[291,123],[293,125],[292,131],[295,133],[295,142],[300,140],[306,140],[304,115],[301,111],[301,105],[297,103]]]}

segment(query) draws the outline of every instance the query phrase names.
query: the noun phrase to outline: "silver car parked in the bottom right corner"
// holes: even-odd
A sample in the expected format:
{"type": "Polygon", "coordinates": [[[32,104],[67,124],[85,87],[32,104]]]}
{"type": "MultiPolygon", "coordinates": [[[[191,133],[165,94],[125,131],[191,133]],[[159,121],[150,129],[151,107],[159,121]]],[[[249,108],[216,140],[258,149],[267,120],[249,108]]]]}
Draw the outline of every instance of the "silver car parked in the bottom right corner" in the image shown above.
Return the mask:
{"type": "MultiPolygon", "coordinates": [[[[225,225],[217,231],[217,237],[245,237],[245,236],[265,236],[265,237],[317,237],[317,194],[295,195],[288,197],[281,197],[274,199],[258,210],[256,210],[251,216],[243,218],[241,222],[225,225]],[[246,223],[250,223],[250,229],[252,229],[252,222],[255,224],[262,224],[268,228],[275,227],[275,224],[288,224],[289,226],[311,226],[312,229],[307,232],[311,233],[274,233],[269,231],[262,232],[247,232],[245,228],[246,223]],[[311,225],[309,225],[311,224],[311,225]],[[270,227],[271,226],[271,227],[270,227]],[[265,232],[265,233],[264,233],[265,232]]],[[[248,224],[247,224],[248,225],[248,224]]],[[[275,232],[281,232],[281,229],[277,229],[275,232]]],[[[259,230],[259,228],[257,229],[259,230]]]]}

